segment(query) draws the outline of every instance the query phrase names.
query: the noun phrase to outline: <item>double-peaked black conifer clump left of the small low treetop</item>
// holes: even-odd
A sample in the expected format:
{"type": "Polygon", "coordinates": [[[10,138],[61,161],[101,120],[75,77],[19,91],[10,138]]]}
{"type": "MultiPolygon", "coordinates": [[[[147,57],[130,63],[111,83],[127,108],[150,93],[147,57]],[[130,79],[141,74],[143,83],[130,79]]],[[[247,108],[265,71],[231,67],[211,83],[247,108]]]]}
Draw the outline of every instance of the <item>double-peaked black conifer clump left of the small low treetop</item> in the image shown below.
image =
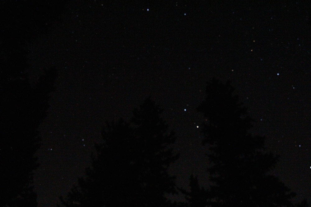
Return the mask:
{"type": "MultiPolygon", "coordinates": [[[[169,144],[173,132],[160,117],[162,109],[147,98],[133,111],[130,123],[119,119],[102,130],[104,143],[95,144],[92,168],[78,178],[62,206],[170,206],[165,193],[177,193],[167,172],[178,159],[169,144]]],[[[60,205],[58,205],[60,206],[60,205]]]]}

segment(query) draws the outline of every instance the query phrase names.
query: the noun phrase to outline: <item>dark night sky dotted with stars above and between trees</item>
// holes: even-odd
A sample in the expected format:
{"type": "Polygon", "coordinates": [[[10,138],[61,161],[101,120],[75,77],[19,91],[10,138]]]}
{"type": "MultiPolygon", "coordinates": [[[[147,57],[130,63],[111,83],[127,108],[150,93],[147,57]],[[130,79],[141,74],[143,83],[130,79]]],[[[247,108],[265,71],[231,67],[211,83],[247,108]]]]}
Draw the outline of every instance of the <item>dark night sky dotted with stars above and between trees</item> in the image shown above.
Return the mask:
{"type": "Polygon", "coordinates": [[[177,185],[188,189],[195,173],[208,186],[196,107],[212,77],[232,82],[256,121],[252,133],[281,156],[272,173],[295,201],[311,203],[307,1],[86,2],[73,1],[63,23],[28,44],[33,82],[51,66],[59,70],[39,128],[39,207],[56,206],[77,184],[105,121],[130,117],[148,96],[176,132],[181,156],[170,172],[177,185]]]}

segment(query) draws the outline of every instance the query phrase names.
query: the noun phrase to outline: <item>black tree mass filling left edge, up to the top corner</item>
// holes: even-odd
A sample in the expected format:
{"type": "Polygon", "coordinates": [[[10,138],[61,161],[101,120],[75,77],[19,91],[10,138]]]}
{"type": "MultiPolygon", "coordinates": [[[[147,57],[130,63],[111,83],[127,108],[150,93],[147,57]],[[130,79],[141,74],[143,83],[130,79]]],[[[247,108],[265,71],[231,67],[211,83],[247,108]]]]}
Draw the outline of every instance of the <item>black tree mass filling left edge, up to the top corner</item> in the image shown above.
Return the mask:
{"type": "Polygon", "coordinates": [[[47,33],[65,10],[65,1],[5,0],[0,2],[0,206],[35,207],[34,154],[39,124],[46,117],[55,68],[30,85],[26,43],[47,33]]]}

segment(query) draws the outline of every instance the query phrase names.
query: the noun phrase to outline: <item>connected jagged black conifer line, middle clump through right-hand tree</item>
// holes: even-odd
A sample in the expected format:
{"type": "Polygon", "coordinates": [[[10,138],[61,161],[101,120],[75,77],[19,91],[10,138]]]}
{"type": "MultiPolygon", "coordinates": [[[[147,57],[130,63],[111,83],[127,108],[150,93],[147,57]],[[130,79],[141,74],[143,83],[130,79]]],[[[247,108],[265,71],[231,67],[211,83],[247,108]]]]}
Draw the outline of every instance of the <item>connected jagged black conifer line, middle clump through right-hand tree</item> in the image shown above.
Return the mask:
{"type": "Polygon", "coordinates": [[[265,137],[253,136],[247,108],[233,95],[230,81],[213,78],[207,82],[206,100],[197,107],[208,122],[202,120],[202,145],[206,155],[209,189],[200,187],[190,176],[190,191],[175,184],[168,174],[174,154],[170,144],[176,137],[167,132],[161,118],[163,110],[150,97],[133,110],[129,122],[107,122],[102,130],[103,143],[95,144],[97,155],[91,167],[78,178],[66,198],[60,196],[58,207],[87,206],[183,206],[183,207],[306,207],[306,200],[293,204],[291,192],[276,176],[268,174],[279,159],[266,152],[265,137]],[[182,193],[187,200],[172,202],[165,194],[182,193]]]}

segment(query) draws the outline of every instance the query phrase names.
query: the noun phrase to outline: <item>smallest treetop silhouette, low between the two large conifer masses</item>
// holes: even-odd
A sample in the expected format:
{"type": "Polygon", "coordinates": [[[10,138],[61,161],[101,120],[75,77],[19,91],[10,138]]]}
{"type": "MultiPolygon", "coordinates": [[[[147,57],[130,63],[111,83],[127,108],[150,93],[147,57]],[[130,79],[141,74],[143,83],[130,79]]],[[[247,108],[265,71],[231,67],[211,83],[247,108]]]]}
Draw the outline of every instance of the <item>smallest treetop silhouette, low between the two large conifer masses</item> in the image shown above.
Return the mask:
{"type": "Polygon", "coordinates": [[[193,174],[190,176],[190,192],[185,191],[182,188],[178,188],[184,195],[185,199],[188,201],[188,207],[205,207],[208,205],[207,202],[207,190],[204,187],[200,188],[197,180],[197,176],[194,177],[193,174]]]}

